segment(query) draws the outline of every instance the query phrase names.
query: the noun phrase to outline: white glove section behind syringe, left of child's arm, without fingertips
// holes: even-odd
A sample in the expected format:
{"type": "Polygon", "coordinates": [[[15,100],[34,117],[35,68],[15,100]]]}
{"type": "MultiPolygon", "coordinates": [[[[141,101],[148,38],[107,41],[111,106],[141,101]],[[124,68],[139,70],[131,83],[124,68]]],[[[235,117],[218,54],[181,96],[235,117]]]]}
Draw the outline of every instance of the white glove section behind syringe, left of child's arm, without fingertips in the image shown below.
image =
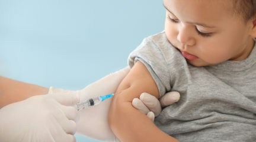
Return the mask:
{"type": "MultiPolygon", "coordinates": [[[[124,69],[119,70],[119,72],[111,73],[97,82],[88,85],[81,91],[65,91],[63,89],[55,89],[51,87],[49,89],[49,94],[78,94],[80,100],[84,101],[85,99],[94,98],[95,96],[104,96],[110,93],[115,93],[121,80],[124,79],[129,71],[129,67],[125,67],[124,69]]],[[[108,112],[112,99],[113,98],[106,99],[101,102],[101,104],[78,111],[80,121],[76,127],[76,134],[100,141],[119,141],[108,125],[108,112]]]]}

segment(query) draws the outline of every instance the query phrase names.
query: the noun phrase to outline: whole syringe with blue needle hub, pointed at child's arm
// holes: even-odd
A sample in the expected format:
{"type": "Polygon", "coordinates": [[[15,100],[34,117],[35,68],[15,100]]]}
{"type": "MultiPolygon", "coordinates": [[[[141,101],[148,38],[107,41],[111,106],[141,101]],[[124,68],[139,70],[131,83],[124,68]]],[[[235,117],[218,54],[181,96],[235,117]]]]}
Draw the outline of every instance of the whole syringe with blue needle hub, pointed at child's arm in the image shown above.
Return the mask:
{"type": "MultiPolygon", "coordinates": [[[[122,91],[120,91],[120,92],[122,92],[122,91]]],[[[117,92],[117,93],[120,93],[120,92],[117,92]]],[[[117,93],[110,93],[105,96],[96,96],[94,98],[89,98],[89,99],[86,99],[85,101],[78,102],[76,105],[73,105],[73,107],[79,111],[81,109],[88,108],[89,106],[98,105],[101,102],[103,102],[105,99],[111,98],[112,96],[114,96],[117,93]]]]}

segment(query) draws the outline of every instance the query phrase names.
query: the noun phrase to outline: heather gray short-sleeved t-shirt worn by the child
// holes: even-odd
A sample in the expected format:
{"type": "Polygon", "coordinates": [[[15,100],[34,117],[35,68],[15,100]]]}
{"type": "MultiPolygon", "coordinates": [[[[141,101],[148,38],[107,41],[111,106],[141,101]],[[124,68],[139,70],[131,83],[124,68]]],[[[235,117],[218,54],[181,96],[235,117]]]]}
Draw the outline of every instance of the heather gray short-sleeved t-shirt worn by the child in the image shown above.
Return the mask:
{"type": "Polygon", "coordinates": [[[256,141],[256,48],[242,61],[195,67],[168,41],[165,32],[145,38],[130,53],[146,65],[159,89],[180,92],[162,109],[155,125],[183,141],[256,141]]]}

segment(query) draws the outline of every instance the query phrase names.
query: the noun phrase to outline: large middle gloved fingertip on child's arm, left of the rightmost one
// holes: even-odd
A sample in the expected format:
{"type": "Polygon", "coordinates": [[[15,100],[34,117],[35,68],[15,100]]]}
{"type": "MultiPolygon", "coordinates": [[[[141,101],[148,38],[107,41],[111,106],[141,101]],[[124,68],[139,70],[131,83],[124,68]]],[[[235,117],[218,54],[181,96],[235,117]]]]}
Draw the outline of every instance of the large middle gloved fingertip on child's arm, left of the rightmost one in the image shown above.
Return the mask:
{"type": "Polygon", "coordinates": [[[160,102],[155,96],[152,96],[149,93],[142,93],[140,95],[140,100],[155,114],[156,117],[161,113],[162,108],[160,102]]]}

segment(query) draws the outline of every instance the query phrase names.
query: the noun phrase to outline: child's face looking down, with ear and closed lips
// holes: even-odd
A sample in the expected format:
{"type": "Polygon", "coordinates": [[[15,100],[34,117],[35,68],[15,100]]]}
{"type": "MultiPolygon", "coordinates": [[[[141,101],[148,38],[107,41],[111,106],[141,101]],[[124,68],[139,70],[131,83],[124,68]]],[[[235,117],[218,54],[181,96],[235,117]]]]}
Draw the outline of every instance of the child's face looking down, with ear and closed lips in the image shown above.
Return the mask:
{"type": "Polygon", "coordinates": [[[164,0],[169,42],[194,66],[244,60],[254,47],[252,20],[243,24],[223,0],[164,0]]]}

